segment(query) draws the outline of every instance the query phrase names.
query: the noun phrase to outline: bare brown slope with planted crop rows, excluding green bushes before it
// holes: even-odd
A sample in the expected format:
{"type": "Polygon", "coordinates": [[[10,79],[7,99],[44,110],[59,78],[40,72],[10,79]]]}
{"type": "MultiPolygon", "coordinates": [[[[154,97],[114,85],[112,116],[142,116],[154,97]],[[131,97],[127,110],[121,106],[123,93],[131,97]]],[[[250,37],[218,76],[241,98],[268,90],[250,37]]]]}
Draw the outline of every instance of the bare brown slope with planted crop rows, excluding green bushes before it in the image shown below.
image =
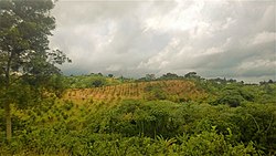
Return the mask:
{"type": "Polygon", "coordinates": [[[150,86],[159,86],[160,90],[169,95],[185,95],[191,98],[198,97],[203,93],[197,90],[194,83],[190,81],[172,80],[172,81],[152,81],[139,83],[125,83],[120,85],[110,85],[91,89],[71,89],[64,95],[68,100],[100,100],[115,101],[121,98],[142,98],[147,94],[146,89],[150,86]]]}

